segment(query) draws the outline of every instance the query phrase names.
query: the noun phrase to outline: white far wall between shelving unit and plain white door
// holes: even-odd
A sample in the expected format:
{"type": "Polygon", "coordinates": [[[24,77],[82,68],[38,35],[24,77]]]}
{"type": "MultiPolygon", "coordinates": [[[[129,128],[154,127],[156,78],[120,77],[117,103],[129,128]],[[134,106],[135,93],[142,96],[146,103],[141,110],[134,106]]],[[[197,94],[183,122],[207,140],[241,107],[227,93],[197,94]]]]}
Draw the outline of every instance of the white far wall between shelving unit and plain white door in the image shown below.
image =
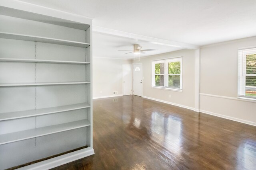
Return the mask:
{"type": "Polygon", "coordinates": [[[123,94],[122,64],[131,64],[131,60],[106,59],[93,57],[93,98],[104,98],[123,94]],[[100,93],[102,91],[102,93],[100,93]],[[118,94],[114,95],[113,92],[118,94]]]}

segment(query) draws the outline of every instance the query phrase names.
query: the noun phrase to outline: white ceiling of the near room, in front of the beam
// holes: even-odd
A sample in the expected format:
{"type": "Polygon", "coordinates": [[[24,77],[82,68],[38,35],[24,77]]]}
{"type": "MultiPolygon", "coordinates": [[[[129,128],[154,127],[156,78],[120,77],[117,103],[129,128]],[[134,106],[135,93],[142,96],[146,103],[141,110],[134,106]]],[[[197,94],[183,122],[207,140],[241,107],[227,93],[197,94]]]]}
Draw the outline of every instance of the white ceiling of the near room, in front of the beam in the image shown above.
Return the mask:
{"type": "Polygon", "coordinates": [[[256,35],[256,0],[22,1],[94,18],[96,26],[192,45],[256,35]]]}

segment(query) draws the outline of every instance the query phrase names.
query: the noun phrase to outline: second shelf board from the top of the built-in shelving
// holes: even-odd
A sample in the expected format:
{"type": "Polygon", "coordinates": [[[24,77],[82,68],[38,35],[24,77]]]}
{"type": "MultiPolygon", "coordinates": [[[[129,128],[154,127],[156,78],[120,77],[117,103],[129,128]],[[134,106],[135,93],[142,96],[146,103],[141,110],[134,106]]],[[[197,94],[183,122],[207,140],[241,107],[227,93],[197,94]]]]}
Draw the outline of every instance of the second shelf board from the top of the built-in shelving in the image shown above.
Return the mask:
{"type": "Polygon", "coordinates": [[[58,60],[38,60],[38,59],[8,59],[8,58],[0,58],[0,61],[28,62],[28,63],[90,64],[90,62],[82,62],[82,61],[58,61],[58,60]]]}

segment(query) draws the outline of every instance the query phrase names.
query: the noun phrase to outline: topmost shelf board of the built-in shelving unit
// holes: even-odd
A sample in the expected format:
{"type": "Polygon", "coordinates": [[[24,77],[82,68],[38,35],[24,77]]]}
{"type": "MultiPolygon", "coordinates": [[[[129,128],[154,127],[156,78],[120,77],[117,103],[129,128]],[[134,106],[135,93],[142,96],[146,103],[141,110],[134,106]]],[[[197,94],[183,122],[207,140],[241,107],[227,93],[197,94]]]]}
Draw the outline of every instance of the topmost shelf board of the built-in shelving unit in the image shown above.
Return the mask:
{"type": "Polygon", "coordinates": [[[16,34],[16,33],[6,33],[0,32],[0,38],[6,39],[18,39],[24,41],[35,41],[41,43],[51,43],[51,44],[59,44],[59,45],[69,45],[74,47],[89,47],[89,43],[82,43],[77,41],[69,41],[63,39],[55,39],[55,38],[48,38],[48,37],[39,37],[34,35],[24,35],[24,34],[16,34]]]}

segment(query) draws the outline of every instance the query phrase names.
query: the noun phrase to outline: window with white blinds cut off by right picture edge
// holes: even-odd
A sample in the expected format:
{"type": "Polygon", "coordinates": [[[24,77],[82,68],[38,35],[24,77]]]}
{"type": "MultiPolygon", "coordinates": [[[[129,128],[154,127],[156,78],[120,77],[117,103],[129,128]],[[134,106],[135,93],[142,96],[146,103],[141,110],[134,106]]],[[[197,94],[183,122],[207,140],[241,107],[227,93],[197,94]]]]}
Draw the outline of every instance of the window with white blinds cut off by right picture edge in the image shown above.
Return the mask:
{"type": "Polygon", "coordinates": [[[256,48],[238,50],[238,96],[256,99],[256,48]]]}

